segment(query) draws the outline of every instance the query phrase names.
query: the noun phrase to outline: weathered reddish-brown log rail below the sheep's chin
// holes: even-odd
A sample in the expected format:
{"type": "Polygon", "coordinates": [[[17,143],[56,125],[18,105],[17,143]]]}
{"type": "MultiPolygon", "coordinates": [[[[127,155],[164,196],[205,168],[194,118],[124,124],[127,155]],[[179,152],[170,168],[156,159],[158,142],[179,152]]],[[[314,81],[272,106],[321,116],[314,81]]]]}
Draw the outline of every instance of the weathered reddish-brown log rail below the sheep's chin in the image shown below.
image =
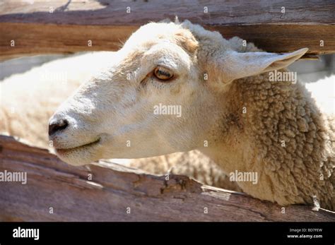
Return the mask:
{"type": "Polygon", "coordinates": [[[73,167],[45,149],[0,136],[0,172],[26,172],[27,184],[0,182],[0,221],[334,221],[307,205],[285,208],[110,162],[73,167]],[[92,178],[90,178],[92,177],[92,178]]]}

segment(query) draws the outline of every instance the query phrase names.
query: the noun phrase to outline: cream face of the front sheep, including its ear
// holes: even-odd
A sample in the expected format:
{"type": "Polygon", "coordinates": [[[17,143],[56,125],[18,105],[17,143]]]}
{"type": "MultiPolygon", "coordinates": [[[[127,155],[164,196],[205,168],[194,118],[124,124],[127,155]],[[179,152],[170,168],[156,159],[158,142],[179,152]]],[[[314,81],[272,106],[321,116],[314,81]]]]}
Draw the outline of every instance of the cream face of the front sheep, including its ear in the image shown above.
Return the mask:
{"type": "Polygon", "coordinates": [[[274,57],[243,57],[217,32],[189,22],[143,25],[61,104],[49,139],[71,165],[200,148],[225,115],[217,88],[264,71],[274,57]]]}

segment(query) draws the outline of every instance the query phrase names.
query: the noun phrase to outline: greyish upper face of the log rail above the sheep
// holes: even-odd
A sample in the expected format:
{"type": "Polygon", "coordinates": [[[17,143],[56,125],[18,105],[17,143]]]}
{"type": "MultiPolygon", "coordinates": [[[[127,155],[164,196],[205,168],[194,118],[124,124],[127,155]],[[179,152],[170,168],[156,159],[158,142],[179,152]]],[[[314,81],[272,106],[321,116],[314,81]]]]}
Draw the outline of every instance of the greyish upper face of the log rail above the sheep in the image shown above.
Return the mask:
{"type": "Polygon", "coordinates": [[[334,25],[334,8],[332,0],[5,0],[0,5],[0,23],[143,25],[148,21],[173,20],[178,16],[201,25],[334,25]],[[205,13],[205,7],[208,13],[205,13]],[[282,7],[285,13],[282,13],[282,7]]]}

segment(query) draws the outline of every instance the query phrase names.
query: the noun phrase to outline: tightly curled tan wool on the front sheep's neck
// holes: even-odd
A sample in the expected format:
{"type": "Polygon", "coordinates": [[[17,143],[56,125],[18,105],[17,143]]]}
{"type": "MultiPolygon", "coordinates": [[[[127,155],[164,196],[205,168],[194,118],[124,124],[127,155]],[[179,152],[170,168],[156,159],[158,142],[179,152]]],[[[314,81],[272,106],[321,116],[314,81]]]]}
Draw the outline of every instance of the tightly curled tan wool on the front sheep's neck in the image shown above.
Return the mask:
{"type": "MultiPolygon", "coordinates": [[[[313,203],[334,209],[334,116],[306,100],[298,83],[271,83],[268,76],[235,83],[242,91],[250,127],[245,134],[258,145],[261,166],[274,200],[281,205],[313,203]]],[[[245,190],[246,191],[246,190],[245,190]]]]}

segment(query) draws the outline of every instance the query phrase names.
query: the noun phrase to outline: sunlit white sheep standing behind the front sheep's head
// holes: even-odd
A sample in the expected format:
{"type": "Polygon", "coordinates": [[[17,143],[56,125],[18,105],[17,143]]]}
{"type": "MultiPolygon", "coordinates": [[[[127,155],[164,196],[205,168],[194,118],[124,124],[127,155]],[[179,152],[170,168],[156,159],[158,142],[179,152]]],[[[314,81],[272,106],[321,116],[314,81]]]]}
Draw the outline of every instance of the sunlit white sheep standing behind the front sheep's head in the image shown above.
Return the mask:
{"type": "MultiPolygon", "coordinates": [[[[0,133],[15,136],[29,145],[49,148],[49,117],[86,78],[99,70],[99,61],[106,54],[91,52],[57,59],[1,81],[0,133]]],[[[151,174],[183,174],[203,184],[241,191],[198,151],[132,159],[127,165],[151,174]]]]}

